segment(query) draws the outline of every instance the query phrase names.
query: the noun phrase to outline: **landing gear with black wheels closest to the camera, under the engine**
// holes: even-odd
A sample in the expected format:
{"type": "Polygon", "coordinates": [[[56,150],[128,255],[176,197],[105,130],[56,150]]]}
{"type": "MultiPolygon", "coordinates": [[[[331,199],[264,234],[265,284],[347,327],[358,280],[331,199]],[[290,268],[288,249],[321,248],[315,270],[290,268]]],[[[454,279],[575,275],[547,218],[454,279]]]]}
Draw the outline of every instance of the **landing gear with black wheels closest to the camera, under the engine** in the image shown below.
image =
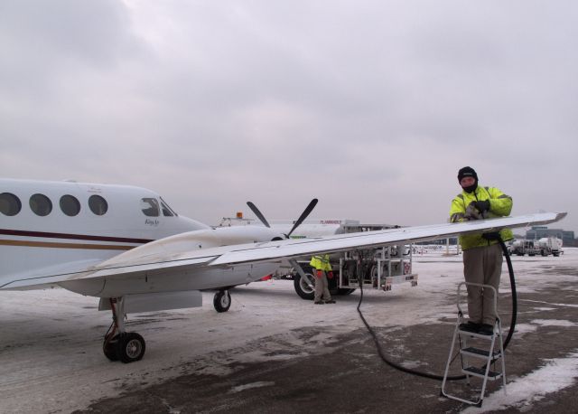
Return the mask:
{"type": "Polygon", "coordinates": [[[128,363],[141,360],[146,349],[144,338],[135,332],[125,331],[123,298],[111,297],[110,307],[113,322],[105,335],[102,351],[110,361],[128,363]]]}

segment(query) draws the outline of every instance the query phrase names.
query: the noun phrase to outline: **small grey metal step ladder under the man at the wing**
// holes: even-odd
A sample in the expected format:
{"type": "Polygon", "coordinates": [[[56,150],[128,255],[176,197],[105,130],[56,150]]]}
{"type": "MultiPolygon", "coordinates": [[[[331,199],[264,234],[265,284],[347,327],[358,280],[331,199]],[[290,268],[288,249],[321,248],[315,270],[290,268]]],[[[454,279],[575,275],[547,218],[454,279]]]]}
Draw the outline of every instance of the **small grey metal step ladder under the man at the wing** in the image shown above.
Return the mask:
{"type": "Polygon", "coordinates": [[[500,378],[503,381],[504,394],[506,394],[506,361],[504,359],[504,343],[502,341],[502,336],[502,325],[498,315],[498,295],[496,289],[489,285],[461,282],[461,284],[458,285],[458,320],[453,331],[450,355],[448,356],[448,362],[445,365],[445,372],[443,374],[441,390],[443,397],[481,407],[488,381],[497,381],[500,378]],[[492,289],[494,291],[493,305],[494,310],[496,311],[496,323],[494,324],[493,334],[477,334],[460,328],[460,325],[466,322],[460,306],[461,287],[465,285],[483,287],[484,289],[492,289]],[[470,346],[468,344],[469,341],[475,343],[475,346],[470,346]],[[453,355],[454,349],[456,349],[456,342],[458,343],[459,353],[453,355]],[[446,391],[448,372],[450,372],[450,366],[452,365],[453,360],[455,360],[458,355],[460,356],[461,372],[465,374],[466,383],[470,385],[471,377],[482,379],[480,397],[477,399],[467,400],[457,395],[452,395],[446,391]],[[496,365],[498,365],[497,368],[496,365]]]}

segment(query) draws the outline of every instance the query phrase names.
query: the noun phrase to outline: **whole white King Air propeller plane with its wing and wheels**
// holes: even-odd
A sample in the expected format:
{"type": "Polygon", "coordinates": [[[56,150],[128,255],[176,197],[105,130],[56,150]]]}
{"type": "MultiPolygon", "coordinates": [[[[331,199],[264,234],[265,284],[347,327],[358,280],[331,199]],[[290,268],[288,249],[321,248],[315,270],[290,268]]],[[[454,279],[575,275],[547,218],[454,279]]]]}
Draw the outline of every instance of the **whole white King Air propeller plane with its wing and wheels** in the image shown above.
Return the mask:
{"type": "Polygon", "coordinates": [[[370,249],[459,234],[562,220],[565,212],[291,239],[307,206],[284,234],[247,202],[263,226],[212,228],[183,217],[150,190],[98,183],[0,179],[0,290],[62,287],[99,298],[113,323],[103,342],[111,361],[143,358],[144,338],[126,332],[127,314],[196,307],[216,289],[226,312],[228,289],[272,274],[285,260],[370,249]]]}

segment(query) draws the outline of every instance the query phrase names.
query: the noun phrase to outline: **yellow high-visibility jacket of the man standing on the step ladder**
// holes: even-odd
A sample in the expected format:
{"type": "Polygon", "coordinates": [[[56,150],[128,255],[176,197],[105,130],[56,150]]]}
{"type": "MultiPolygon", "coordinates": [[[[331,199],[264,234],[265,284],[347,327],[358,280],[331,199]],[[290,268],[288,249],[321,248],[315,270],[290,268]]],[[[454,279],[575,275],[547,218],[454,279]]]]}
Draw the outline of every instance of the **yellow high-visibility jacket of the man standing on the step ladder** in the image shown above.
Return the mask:
{"type": "MultiPolygon", "coordinates": [[[[450,208],[450,221],[469,221],[474,220],[466,215],[466,210],[471,202],[481,202],[489,200],[489,212],[486,218],[504,217],[508,216],[512,211],[512,197],[499,191],[496,187],[482,187],[478,185],[475,192],[466,193],[462,191],[452,200],[452,207],[450,208]]],[[[514,234],[509,229],[504,229],[499,232],[502,240],[514,239],[514,234]]],[[[481,237],[481,233],[464,234],[460,236],[461,249],[471,249],[481,246],[489,246],[498,243],[498,240],[485,240],[481,237]]]]}

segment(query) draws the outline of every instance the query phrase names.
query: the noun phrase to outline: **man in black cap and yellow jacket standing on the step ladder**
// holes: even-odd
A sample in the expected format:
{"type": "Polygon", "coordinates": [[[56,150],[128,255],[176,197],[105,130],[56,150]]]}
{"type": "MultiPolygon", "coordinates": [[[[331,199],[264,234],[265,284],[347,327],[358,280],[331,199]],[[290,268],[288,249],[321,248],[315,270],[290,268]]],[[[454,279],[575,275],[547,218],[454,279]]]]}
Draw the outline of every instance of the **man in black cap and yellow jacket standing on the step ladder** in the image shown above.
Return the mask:
{"type": "MultiPolygon", "coordinates": [[[[478,185],[478,174],[470,166],[458,172],[461,193],[452,200],[450,221],[470,221],[508,216],[512,211],[512,198],[496,187],[478,185]]],[[[489,285],[498,292],[502,271],[501,240],[512,240],[512,231],[475,233],[460,236],[463,250],[463,276],[466,282],[489,285]]],[[[461,329],[478,334],[492,334],[496,323],[494,294],[491,289],[467,285],[468,315],[470,320],[461,329]]]]}

